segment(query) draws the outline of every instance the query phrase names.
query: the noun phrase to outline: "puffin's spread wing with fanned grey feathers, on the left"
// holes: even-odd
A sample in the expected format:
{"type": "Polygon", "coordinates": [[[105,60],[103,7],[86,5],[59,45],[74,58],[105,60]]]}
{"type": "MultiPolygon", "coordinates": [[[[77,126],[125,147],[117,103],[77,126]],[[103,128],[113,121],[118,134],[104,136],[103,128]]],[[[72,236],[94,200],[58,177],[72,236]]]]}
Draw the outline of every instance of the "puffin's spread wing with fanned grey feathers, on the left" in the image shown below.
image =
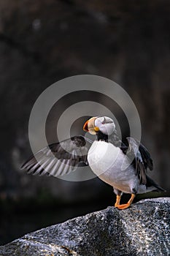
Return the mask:
{"type": "Polygon", "coordinates": [[[88,165],[87,154],[91,141],[74,136],[60,143],[53,143],[31,156],[22,166],[28,173],[40,176],[63,176],[78,165],[88,165]]]}

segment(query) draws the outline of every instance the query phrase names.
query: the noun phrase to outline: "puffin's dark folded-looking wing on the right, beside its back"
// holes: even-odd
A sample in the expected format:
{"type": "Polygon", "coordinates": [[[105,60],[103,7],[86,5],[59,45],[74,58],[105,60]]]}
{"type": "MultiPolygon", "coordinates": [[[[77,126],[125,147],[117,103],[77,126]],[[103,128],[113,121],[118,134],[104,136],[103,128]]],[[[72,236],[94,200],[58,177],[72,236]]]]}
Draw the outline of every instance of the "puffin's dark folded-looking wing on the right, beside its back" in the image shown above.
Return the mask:
{"type": "Polygon", "coordinates": [[[153,169],[152,159],[150,153],[147,151],[138,140],[134,138],[126,138],[128,140],[129,150],[127,151],[128,157],[134,158],[134,167],[136,175],[139,178],[140,184],[147,184],[147,168],[153,169]]]}

